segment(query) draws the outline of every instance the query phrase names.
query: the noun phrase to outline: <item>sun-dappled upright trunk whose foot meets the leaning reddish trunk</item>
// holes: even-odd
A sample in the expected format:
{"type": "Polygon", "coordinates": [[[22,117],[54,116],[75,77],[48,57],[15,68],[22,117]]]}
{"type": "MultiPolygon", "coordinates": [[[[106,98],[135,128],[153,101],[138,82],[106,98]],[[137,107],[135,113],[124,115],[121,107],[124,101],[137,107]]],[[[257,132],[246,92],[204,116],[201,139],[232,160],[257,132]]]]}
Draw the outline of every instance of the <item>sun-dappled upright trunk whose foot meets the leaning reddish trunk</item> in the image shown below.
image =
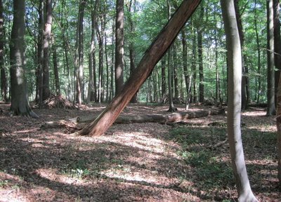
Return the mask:
{"type": "Polygon", "coordinates": [[[115,92],[118,94],[124,85],[124,0],[117,0],[116,8],[115,92]]]}

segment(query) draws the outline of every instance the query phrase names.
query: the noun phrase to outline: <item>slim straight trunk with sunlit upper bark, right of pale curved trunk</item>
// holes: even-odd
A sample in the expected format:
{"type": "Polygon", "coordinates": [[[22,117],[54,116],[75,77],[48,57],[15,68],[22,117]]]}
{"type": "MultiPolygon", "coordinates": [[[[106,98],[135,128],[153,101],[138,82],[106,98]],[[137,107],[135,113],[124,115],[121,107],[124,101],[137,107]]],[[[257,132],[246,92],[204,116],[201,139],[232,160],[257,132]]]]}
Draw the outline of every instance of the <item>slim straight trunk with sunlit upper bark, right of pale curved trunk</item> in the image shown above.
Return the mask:
{"type": "Polygon", "coordinates": [[[267,115],[275,115],[275,67],[274,67],[274,28],[273,28],[273,0],[266,1],[267,11],[267,55],[268,55],[268,109],[267,115]]]}

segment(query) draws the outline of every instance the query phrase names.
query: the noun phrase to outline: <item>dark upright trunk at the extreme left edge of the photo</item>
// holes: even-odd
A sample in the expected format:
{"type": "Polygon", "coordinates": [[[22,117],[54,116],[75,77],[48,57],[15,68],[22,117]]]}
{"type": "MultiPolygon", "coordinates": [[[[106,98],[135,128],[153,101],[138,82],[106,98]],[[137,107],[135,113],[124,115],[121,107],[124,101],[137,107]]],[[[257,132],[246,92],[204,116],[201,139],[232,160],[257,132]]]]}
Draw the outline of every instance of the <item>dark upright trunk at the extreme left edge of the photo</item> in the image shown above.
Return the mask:
{"type": "Polygon", "coordinates": [[[8,88],[6,79],[6,69],[4,65],[4,16],[3,2],[0,0],[0,69],[1,69],[1,97],[4,102],[8,101],[8,88]]]}

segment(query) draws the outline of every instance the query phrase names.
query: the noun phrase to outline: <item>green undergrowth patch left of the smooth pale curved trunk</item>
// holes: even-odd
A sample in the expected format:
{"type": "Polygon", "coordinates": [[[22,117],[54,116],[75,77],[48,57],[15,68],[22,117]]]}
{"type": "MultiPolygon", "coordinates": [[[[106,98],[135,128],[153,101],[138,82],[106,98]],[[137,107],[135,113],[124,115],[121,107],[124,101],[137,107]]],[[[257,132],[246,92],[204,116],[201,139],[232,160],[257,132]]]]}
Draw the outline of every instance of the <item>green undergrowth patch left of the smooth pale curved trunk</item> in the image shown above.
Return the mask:
{"type": "MultiPolygon", "coordinates": [[[[181,126],[170,130],[170,138],[181,144],[178,154],[194,168],[192,176],[200,190],[211,191],[233,186],[233,173],[224,148],[212,148],[226,139],[226,128],[181,126]],[[220,152],[221,150],[221,152],[220,152]]],[[[225,147],[225,146],[222,146],[225,147]]],[[[211,193],[209,193],[211,194],[211,193]]]]}

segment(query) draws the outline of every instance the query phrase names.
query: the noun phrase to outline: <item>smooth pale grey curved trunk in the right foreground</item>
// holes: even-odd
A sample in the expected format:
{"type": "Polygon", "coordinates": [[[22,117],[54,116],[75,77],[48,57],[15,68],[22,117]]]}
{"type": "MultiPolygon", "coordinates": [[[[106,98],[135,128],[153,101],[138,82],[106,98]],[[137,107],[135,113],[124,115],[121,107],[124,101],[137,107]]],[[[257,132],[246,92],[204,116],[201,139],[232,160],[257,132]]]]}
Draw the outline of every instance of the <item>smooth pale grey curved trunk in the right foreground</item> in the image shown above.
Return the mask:
{"type": "Polygon", "coordinates": [[[233,0],[221,0],[228,50],[228,140],[238,201],[257,201],[251,191],[241,139],[242,57],[233,0]]]}

